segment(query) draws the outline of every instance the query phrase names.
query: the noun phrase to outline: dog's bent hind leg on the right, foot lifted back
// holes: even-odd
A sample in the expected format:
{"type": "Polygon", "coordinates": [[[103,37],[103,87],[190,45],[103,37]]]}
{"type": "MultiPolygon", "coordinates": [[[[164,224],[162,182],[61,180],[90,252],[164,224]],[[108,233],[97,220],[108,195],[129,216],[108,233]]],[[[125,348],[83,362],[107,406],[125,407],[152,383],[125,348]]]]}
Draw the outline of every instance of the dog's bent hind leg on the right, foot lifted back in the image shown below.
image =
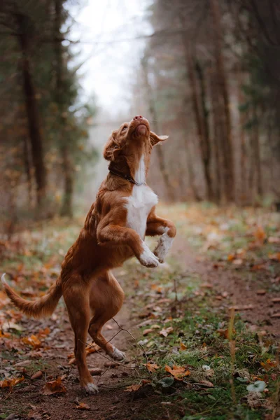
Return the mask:
{"type": "Polygon", "coordinates": [[[104,323],[118,314],[123,306],[124,297],[123,289],[111,272],[106,272],[92,282],[90,308],[94,316],[90,321],[88,332],[94,342],[115,360],[123,360],[125,354],[108,342],[101,330],[104,323]]]}

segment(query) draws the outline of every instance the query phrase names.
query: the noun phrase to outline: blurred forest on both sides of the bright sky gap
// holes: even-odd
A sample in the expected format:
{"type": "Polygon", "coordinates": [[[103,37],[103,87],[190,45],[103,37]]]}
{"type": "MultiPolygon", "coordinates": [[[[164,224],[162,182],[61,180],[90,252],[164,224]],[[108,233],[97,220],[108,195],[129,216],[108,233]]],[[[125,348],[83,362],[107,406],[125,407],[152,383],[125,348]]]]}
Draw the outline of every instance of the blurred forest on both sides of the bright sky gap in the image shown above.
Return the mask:
{"type": "MultiPolygon", "coordinates": [[[[97,162],[89,141],[97,104],[81,99],[69,3],[79,2],[0,2],[0,217],[8,235],[22,220],[72,216],[74,193],[97,162]]],[[[151,33],[136,37],[144,49],[124,119],[141,113],[170,137],[155,148],[151,186],[167,201],[279,202],[279,1],[154,0],[145,16],[151,33]]]]}

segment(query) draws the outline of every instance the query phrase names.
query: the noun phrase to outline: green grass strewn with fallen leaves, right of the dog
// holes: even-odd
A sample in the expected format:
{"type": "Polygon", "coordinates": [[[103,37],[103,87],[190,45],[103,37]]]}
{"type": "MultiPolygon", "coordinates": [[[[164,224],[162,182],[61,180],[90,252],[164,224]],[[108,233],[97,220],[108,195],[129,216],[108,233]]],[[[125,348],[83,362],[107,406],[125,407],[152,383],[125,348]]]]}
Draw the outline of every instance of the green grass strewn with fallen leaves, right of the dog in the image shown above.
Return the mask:
{"type": "MultiPolygon", "coordinates": [[[[127,266],[128,270],[132,269],[130,263],[127,266]]],[[[279,386],[276,344],[263,342],[258,334],[248,331],[238,315],[234,319],[232,338],[223,337],[218,330],[229,327],[230,314],[213,306],[211,290],[197,295],[200,290],[197,275],[181,276],[177,269],[168,273],[154,270],[147,274],[142,267],[137,267],[135,275],[141,279],[139,291],[133,297],[135,313],[139,314],[139,308],[148,307],[146,316],[143,310],[139,314],[139,323],[147,321],[140,328],[140,344],[146,351],[148,363],[160,366],[146,375],[158,395],[155,406],[167,409],[171,419],[251,420],[265,419],[265,415],[271,414],[279,386]],[[160,330],[168,327],[173,328],[172,332],[162,337],[160,330]],[[153,331],[143,336],[148,328],[153,331]],[[181,343],[186,346],[185,350],[181,350],[181,343]],[[274,366],[267,366],[268,370],[264,367],[267,360],[275,362],[274,366]],[[190,375],[183,381],[172,381],[165,366],[174,365],[185,367],[190,375]],[[256,380],[265,381],[268,391],[251,402],[253,394],[246,387],[256,380]],[[163,387],[162,381],[167,381],[169,386],[163,387]],[[203,381],[213,386],[204,386],[203,381]]],[[[146,357],[142,363],[146,363],[146,357]]],[[[153,417],[148,417],[146,412],[139,416],[139,419],[148,418],[153,417]]]]}

